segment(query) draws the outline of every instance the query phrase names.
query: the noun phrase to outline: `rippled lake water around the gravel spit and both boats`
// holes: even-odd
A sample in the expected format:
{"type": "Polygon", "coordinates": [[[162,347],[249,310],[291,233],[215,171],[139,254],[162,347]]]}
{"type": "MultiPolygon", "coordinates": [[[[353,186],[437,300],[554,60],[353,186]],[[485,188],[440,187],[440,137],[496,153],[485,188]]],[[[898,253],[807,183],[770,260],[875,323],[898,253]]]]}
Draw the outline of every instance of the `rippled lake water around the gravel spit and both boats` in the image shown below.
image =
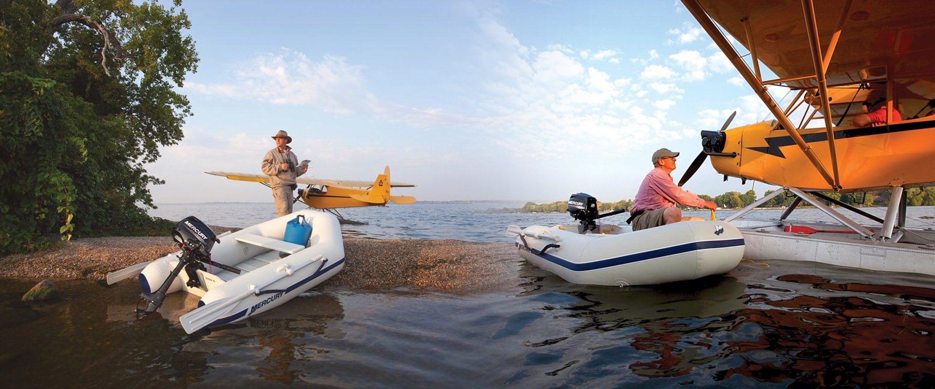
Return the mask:
{"type": "MultiPolygon", "coordinates": [[[[507,225],[571,220],[485,212],[520,205],[349,209],[343,215],[369,224],[343,229],[510,243],[507,225]]],[[[272,208],[163,204],[153,215],[246,227],[272,208]]],[[[911,207],[910,224],[930,227],[932,215],[935,207],[911,207]]],[[[62,282],[64,301],[36,305],[19,301],[34,283],[5,280],[0,379],[9,387],[935,387],[935,277],[744,261],[724,276],[617,288],[569,285],[518,256],[503,260],[515,281],[495,291],[325,282],[197,335],[177,322],[196,299],[170,296],[161,314],[137,320],[132,282],[62,282]]]]}

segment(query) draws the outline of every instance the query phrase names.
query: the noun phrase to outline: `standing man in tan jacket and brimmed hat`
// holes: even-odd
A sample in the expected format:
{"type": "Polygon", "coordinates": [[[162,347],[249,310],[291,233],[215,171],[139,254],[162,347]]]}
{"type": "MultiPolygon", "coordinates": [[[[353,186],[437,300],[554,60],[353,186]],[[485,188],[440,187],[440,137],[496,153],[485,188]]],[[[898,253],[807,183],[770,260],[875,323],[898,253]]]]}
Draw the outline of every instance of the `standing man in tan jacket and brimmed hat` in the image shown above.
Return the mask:
{"type": "Polygon", "coordinates": [[[273,188],[273,199],[276,200],[276,217],[292,214],[292,204],[295,202],[295,178],[305,174],[309,165],[299,166],[298,158],[292,152],[292,143],[289,133],[280,130],[273,135],[276,147],[266,151],[260,169],[269,175],[269,187],[273,188]]]}

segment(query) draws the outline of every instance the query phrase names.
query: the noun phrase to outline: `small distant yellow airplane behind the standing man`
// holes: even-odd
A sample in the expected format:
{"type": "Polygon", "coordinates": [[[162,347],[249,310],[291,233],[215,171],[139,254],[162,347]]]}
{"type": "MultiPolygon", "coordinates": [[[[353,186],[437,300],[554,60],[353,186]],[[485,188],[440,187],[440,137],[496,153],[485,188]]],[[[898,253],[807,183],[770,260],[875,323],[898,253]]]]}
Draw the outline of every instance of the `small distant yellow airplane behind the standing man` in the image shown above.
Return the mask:
{"type": "MultiPolygon", "coordinates": [[[[267,187],[269,186],[269,176],[266,174],[229,172],[205,173],[221,175],[237,181],[258,182],[267,187]]],[[[372,182],[298,177],[295,179],[295,183],[308,186],[298,190],[298,196],[295,200],[302,201],[309,205],[309,207],[322,210],[330,211],[335,208],[386,205],[388,201],[393,201],[397,204],[411,204],[416,201],[412,196],[390,195],[390,188],[412,188],[416,185],[403,182],[390,182],[389,166],[383,170],[383,174],[377,175],[377,179],[372,182]]]]}

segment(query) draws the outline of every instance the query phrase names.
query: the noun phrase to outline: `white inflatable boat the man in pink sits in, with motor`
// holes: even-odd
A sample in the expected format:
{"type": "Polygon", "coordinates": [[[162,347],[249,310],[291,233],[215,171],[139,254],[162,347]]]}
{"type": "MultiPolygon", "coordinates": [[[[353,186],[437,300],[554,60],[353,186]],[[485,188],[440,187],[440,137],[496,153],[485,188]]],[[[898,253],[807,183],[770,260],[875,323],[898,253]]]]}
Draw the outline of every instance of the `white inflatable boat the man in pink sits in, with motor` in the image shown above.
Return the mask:
{"type": "Polygon", "coordinates": [[[581,224],[510,226],[507,235],[516,237],[520,257],[569,283],[626,286],[694,280],[730,271],[743,257],[741,232],[728,223],[683,221],[633,231],[598,225],[600,217],[625,211],[597,215],[594,198],[572,196],[568,206],[581,224]]]}

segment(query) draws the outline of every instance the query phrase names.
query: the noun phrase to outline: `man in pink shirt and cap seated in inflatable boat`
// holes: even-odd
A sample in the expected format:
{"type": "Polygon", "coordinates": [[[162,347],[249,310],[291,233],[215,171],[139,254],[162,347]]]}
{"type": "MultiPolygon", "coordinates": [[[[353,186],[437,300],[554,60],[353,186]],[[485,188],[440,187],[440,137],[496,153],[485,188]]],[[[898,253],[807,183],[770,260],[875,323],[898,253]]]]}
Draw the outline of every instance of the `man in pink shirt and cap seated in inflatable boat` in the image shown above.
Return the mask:
{"type": "MultiPolygon", "coordinates": [[[[640,184],[637,198],[630,208],[630,219],[633,230],[649,229],[666,224],[683,221],[682,210],[676,203],[703,207],[717,208],[714,201],[705,201],[694,193],[675,185],[670,175],[675,170],[675,158],[679,153],[668,148],[660,148],[653,153],[653,166],[655,169],[640,184]]],[[[704,220],[700,217],[686,217],[685,220],[704,220]]]]}

